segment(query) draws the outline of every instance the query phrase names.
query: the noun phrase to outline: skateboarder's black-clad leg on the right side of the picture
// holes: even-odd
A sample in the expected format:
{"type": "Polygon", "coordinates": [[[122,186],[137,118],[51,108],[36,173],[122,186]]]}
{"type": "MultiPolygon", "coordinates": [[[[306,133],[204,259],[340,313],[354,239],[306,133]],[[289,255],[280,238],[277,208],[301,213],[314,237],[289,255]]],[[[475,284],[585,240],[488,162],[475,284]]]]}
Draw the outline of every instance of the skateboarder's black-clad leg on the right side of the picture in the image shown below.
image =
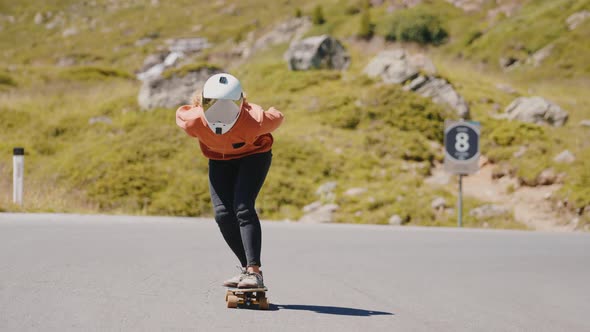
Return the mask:
{"type": "Polygon", "coordinates": [[[271,160],[270,151],[242,158],[234,191],[234,212],[240,224],[248,270],[256,273],[259,273],[261,266],[262,230],[255,203],[268,174],[271,160]]]}

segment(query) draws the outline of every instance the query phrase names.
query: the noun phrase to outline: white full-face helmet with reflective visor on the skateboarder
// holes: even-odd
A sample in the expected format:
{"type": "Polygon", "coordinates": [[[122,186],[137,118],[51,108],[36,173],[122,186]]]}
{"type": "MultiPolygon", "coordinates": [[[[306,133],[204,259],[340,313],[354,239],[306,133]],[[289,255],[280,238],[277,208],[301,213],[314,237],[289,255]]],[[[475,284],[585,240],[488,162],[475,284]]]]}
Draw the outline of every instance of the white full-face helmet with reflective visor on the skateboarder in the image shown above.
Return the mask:
{"type": "Polygon", "coordinates": [[[209,128],[218,135],[228,132],[238,120],[242,108],[240,81],[227,73],[213,75],[205,82],[202,97],[209,128]]]}

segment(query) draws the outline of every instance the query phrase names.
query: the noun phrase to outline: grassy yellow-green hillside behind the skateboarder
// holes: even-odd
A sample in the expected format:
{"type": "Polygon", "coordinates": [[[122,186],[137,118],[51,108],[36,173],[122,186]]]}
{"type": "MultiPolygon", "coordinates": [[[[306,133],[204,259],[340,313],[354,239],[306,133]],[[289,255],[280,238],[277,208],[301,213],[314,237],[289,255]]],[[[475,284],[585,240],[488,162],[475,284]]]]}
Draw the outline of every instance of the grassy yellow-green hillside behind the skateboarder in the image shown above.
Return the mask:
{"type": "MultiPolygon", "coordinates": [[[[574,31],[563,22],[588,5],[528,1],[514,16],[493,22],[483,19],[485,12],[466,15],[444,1],[393,13],[385,4],[368,13],[377,38],[408,17],[436,17],[448,34],[439,46],[400,41],[390,46],[419,49],[435,59],[441,75],[483,122],[484,154],[511,163],[523,177],[547,167],[567,172],[556,199],[568,198],[579,208],[590,205],[590,135],[578,125],[590,118],[590,97],[584,93],[590,68],[583,56],[588,43],[581,42],[590,20],[574,31]],[[515,40],[524,48],[513,54],[515,40]],[[554,54],[540,67],[499,69],[504,54],[524,58],[547,43],[555,43],[554,54]],[[569,111],[570,121],[554,129],[494,120],[493,105],[503,109],[515,98],[499,91],[498,83],[557,102],[569,111]],[[512,158],[521,145],[528,152],[512,158]],[[576,155],[575,163],[552,161],[564,149],[576,155]]],[[[198,145],[176,127],[174,110],[140,111],[140,83],[134,78],[144,58],[167,39],[206,37],[213,47],[199,61],[231,68],[252,102],[273,105],[287,117],[275,135],[273,167],[258,203],[263,218],[298,219],[303,206],[321,199],[315,195],[318,186],[336,181],[331,200],[340,205],[338,222],[387,223],[398,214],[409,224],[454,224],[453,213],[430,208],[437,196],[454,202],[454,193],[424,184],[442,159],[443,121],[452,115],[362,74],[377,52],[356,38],[367,12],[363,8],[362,1],[342,0],[0,1],[0,210],[20,209],[10,204],[10,151],[24,146],[28,211],[210,215],[207,164],[198,145]],[[282,59],[286,44],[247,62],[222,56],[248,32],[260,36],[297,9],[311,15],[319,4],[326,22],[307,34],[341,38],[351,52],[349,70],[290,72],[282,59]],[[43,16],[40,24],[37,13],[43,16]],[[48,29],[52,22],[57,23],[48,29]],[[71,28],[75,33],[64,36],[71,28]],[[144,37],[152,40],[138,46],[144,37]],[[74,65],[58,66],[64,58],[74,65]],[[108,120],[90,121],[100,117],[108,120]],[[368,191],[343,194],[353,187],[368,191]]],[[[468,200],[466,209],[481,203],[468,200]]],[[[523,227],[511,217],[467,219],[468,226],[523,227]]]]}

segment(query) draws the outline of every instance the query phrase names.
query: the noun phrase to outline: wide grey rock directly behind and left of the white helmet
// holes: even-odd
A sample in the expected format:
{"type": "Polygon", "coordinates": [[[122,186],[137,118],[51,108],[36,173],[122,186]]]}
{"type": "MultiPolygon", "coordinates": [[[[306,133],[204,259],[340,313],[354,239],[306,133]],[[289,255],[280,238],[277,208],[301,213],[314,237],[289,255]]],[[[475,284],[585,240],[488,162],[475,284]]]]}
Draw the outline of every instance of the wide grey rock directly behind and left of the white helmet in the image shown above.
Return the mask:
{"type": "Polygon", "coordinates": [[[207,67],[189,71],[184,76],[145,80],[137,98],[139,106],[143,110],[150,110],[156,107],[174,108],[188,104],[191,95],[207,78],[221,72],[219,69],[207,67]]]}

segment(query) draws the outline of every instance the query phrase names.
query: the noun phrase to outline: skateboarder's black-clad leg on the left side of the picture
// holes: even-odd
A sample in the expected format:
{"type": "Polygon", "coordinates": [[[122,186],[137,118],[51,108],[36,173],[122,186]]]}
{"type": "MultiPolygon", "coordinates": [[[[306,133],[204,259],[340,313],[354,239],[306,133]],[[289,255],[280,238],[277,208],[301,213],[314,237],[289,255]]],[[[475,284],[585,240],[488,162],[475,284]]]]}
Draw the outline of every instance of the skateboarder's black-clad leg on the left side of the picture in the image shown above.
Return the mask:
{"type": "Polygon", "coordinates": [[[209,160],[209,191],[215,221],[231,250],[246,267],[247,258],[242,244],[240,225],[234,213],[234,188],[238,175],[235,162],[209,160]]]}

